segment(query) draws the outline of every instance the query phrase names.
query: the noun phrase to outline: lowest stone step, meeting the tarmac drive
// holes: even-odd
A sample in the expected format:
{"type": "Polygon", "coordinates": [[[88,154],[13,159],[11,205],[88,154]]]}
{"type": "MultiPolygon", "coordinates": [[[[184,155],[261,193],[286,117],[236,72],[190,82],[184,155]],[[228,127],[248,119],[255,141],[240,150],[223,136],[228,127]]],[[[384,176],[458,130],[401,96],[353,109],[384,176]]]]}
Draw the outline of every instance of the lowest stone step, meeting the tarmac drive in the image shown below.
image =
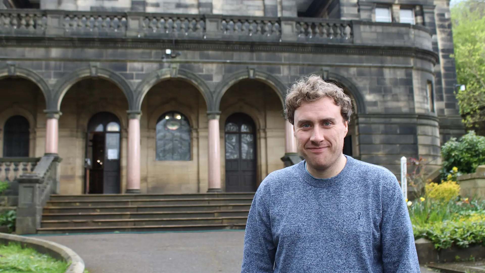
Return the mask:
{"type": "Polygon", "coordinates": [[[244,229],[245,224],[192,224],[192,225],[146,225],[146,226],[88,226],[88,227],[41,227],[38,234],[69,234],[94,232],[155,232],[155,231],[201,231],[244,229]]]}

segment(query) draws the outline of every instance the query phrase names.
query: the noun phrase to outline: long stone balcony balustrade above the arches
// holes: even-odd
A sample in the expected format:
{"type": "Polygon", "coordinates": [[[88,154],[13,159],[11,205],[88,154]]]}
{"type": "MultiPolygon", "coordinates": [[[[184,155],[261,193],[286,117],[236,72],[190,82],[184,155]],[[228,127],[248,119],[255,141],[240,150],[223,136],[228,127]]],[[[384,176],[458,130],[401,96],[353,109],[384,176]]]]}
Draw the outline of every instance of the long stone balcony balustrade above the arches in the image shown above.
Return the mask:
{"type": "Polygon", "coordinates": [[[424,26],[305,17],[0,10],[0,36],[119,37],[410,46],[432,50],[424,26]],[[386,38],[390,37],[390,38],[386,38]]]}

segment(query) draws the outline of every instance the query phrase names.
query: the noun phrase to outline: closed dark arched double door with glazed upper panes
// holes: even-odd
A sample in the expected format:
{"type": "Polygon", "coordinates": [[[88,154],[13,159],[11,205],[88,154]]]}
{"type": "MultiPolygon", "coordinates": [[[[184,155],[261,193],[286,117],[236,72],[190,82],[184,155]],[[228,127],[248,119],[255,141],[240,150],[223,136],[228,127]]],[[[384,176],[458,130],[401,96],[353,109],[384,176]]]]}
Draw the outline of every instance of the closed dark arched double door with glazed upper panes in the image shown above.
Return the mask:
{"type": "Polygon", "coordinates": [[[226,191],[256,190],[256,126],[246,114],[226,120],[226,191]]]}

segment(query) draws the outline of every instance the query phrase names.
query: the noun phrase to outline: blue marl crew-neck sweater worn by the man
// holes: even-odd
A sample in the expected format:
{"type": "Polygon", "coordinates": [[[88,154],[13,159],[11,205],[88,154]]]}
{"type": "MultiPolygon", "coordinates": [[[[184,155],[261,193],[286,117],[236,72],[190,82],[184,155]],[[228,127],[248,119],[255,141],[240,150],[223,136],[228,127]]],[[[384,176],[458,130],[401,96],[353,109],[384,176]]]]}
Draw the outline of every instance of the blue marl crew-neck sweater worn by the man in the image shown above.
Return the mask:
{"type": "Polygon", "coordinates": [[[272,172],[249,211],[242,273],[420,272],[396,177],[347,156],[315,179],[305,161],[272,172]]]}

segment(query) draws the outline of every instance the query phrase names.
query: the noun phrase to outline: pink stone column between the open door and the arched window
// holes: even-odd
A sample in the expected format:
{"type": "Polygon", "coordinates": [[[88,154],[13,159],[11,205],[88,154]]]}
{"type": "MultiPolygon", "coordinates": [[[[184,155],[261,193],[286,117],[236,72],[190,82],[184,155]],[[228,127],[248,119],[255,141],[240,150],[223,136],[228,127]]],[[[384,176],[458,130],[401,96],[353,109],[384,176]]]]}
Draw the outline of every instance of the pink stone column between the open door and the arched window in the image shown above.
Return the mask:
{"type": "Polygon", "coordinates": [[[126,193],[140,193],[140,111],[128,111],[126,193]]]}

